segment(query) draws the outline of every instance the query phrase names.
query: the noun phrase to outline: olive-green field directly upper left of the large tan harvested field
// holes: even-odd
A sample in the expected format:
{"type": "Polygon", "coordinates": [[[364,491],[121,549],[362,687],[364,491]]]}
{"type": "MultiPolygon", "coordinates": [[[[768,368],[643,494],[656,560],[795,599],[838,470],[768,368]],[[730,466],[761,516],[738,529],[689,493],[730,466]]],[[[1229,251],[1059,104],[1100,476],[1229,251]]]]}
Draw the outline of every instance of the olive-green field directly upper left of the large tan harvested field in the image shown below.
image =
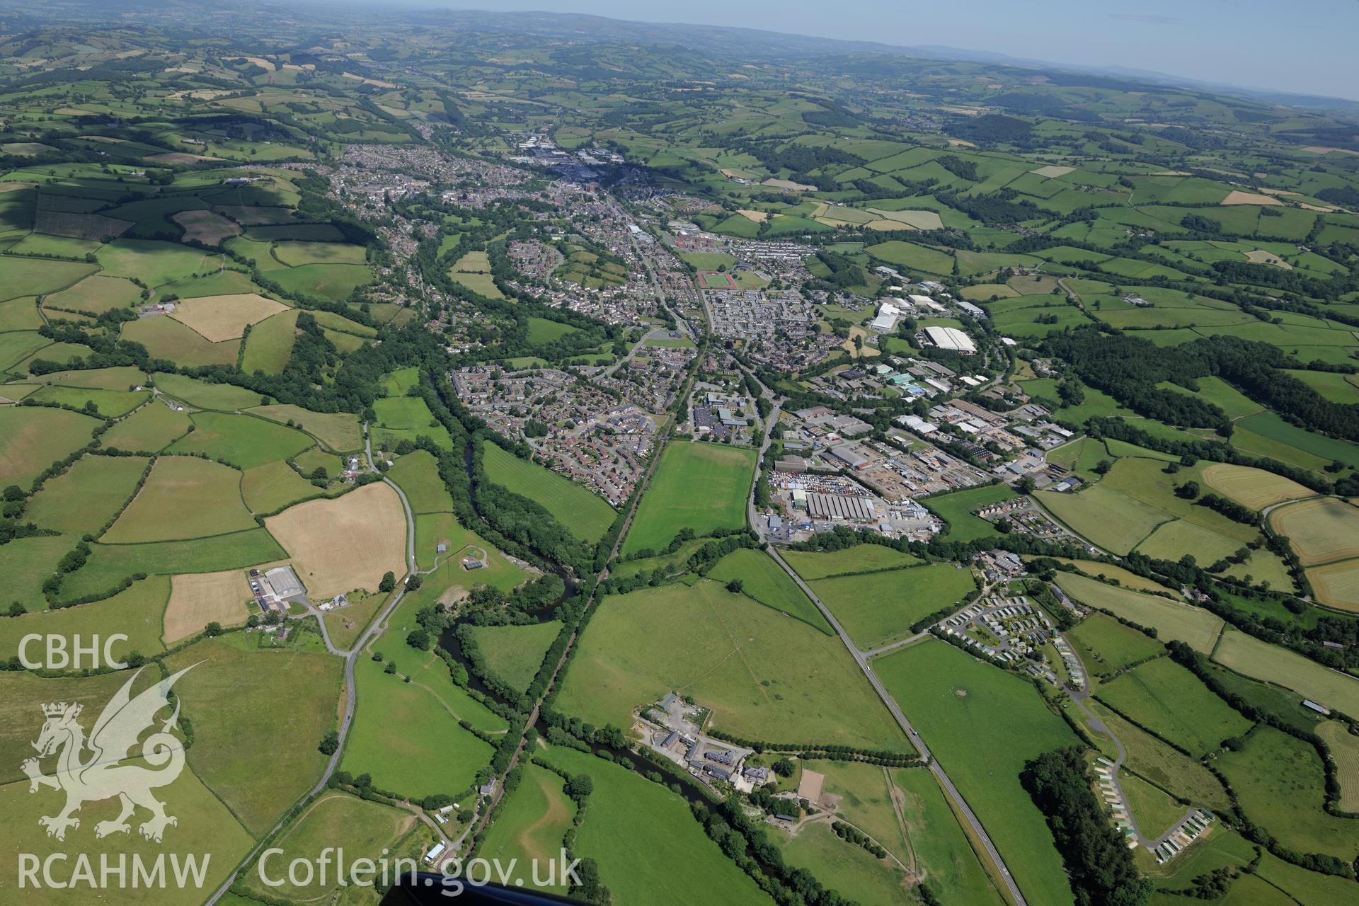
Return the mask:
{"type": "Polygon", "coordinates": [[[201,538],[254,528],[241,500],[241,473],[197,456],[162,456],[118,520],[106,545],[201,538]]]}

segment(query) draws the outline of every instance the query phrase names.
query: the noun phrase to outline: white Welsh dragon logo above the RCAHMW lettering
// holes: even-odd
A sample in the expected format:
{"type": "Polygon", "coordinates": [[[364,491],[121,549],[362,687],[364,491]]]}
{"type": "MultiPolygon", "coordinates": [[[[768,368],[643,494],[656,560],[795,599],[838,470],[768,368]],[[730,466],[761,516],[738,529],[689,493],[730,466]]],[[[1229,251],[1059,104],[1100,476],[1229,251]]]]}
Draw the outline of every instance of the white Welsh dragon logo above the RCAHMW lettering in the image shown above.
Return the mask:
{"type": "Polygon", "coordinates": [[[122,811],[116,819],[95,825],[95,837],[130,833],[128,819],[137,807],[151,812],[151,818],[137,829],[147,839],[159,844],[166,826],[179,823],[166,815],[164,803],[151,792],[173,784],[183,770],[183,744],[170,733],[179,719],[178,702],[160,729],[141,740],[136,754],[129,755],[129,751],[137,746],[141,733],[156,723],[156,713],[170,705],[170,687],[190,670],[193,666],[133,698],[132,685],[141,674],[139,670],[105,705],[88,739],[77,723],[82,705],[58,702],[42,706],[46,721],[33,743],[38,757],[24,759],[20,767],[29,776],[30,793],[38,792],[39,786],[67,793],[65,808],[38,819],[38,825],[48,829],[48,837],[65,839],[67,829],[80,827],[80,819],[73,814],[84,803],[113,797],[118,797],[122,811]],[[57,770],[43,774],[39,761],[50,755],[57,755],[57,770]],[[136,758],[144,763],[133,763],[136,758]]]}

